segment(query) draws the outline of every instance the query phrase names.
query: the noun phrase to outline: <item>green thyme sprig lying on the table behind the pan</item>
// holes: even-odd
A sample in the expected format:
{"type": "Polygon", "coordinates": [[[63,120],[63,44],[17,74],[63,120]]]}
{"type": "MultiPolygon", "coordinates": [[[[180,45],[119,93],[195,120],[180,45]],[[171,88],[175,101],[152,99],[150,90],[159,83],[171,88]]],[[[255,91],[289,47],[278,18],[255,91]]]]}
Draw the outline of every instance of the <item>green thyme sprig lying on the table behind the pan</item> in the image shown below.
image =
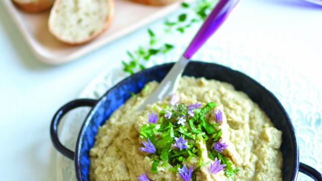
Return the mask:
{"type": "Polygon", "coordinates": [[[181,7],[185,9],[176,20],[166,20],[164,22],[164,32],[157,36],[151,29],[147,30],[149,40],[146,46],[140,45],[133,51],[127,51],[128,61],[122,60],[123,70],[130,74],[145,68],[144,62],[149,61],[151,57],[158,54],[167,54],[174,45],[163,42],[164,37],[170,33],[185,33],[186,30],[194,24],[202,22],[209,14],[218,0],[197,0],[197,2],[188,4],[183,2],[181,7]]]}

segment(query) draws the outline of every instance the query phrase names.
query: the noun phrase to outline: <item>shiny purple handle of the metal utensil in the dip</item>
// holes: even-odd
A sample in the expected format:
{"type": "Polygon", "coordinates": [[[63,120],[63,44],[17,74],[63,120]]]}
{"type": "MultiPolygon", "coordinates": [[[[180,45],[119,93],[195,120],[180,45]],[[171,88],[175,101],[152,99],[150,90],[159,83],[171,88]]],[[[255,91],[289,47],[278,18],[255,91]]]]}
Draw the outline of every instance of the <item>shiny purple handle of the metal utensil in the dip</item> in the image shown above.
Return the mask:
{"type": "Polygon", "coordinates": [[[187,59],[191,58],[192,55],[194,55],[196,51],[208,40],[208,38],[220,27],[238,2],[239,0],[220,0],[203,23],[196,36],[193,38],[183,56],[187,59]]]}

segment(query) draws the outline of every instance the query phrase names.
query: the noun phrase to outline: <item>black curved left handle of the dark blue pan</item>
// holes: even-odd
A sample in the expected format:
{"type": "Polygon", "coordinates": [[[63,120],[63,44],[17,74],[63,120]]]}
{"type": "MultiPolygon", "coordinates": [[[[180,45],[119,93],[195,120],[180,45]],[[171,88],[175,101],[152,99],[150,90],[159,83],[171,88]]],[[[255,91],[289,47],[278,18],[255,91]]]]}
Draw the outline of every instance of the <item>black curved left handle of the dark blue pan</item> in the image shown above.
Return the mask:
{"type": "Polygon", "coordinates": [[[61,108],[56,112],[54,117],[52,118],[51,124],[50,124],[50,137],[52,144],[54,147],[64,156],[74,159],[74,152],[71,151],[70,149],[66,148],[64,145],[61,144],[58,138],[57,130],[58,130],[58,125],[61,120],[61,118],[68,113],[70,110],[78,108],[78,107],[94,107],[94,105],[97,103],[97,100],[93,99],[77,99],[74,101],[71,101],[61,108]]]}

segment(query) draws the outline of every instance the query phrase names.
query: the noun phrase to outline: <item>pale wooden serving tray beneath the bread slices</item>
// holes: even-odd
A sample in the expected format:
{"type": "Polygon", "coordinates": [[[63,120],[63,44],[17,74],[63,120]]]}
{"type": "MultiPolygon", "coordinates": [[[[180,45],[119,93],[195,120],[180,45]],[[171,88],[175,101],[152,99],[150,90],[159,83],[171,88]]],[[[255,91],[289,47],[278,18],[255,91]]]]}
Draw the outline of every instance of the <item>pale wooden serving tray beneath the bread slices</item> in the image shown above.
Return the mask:
{"type": "Polygon", "coordinates": [[[137,4],[130,0],[115,0],[115,15],[110,28],[87,44],[70,46],[56,40],[49,33],[47,28],[49,10],[31,14],[20,10],[11,0],[3,0],[2,2],[28,42],[32,52],[40,61],[48,64],[61,64],[75,60],[180,7],[180,2],[164,7],[153,7],[137,4]]]}

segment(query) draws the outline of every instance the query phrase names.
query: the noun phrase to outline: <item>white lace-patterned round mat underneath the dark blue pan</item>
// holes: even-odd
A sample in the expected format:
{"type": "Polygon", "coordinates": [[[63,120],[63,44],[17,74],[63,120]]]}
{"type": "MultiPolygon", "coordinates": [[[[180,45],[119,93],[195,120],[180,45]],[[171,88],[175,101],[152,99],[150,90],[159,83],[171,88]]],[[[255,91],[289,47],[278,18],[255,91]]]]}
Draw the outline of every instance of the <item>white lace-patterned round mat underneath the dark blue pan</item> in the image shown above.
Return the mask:
{"type": "MultiPolygon", "coordinates": [[[[180,57],[184,49],[183,44],[169,55],[153,58],[146,66],[174,61],[180,57]]],[[[291,64],[274,55],[227,42],[207,44],[193,59],[216,62],[242,71],[273,92],[287,110],[296,128],[300,161],[322,171],[322,90],[314,86],[314,83],[318,82],[310,82],[297,73],[291,64]]],[[[108,67],[84,89],[79,98],[98,99],[126,76],[128,74],[122,71],[121,63],[115,67],[108,67]]],[[[78,130],[88,110],[77,109],[68,114],[62,122],[60,138],[71,150],[74,150],[78,130]]],[[[57,153],[57,180],[76,180],[73,161],[60,153],[57,153]]],[[[299,173],[298,180],[310,178],[299,173]]]]}

